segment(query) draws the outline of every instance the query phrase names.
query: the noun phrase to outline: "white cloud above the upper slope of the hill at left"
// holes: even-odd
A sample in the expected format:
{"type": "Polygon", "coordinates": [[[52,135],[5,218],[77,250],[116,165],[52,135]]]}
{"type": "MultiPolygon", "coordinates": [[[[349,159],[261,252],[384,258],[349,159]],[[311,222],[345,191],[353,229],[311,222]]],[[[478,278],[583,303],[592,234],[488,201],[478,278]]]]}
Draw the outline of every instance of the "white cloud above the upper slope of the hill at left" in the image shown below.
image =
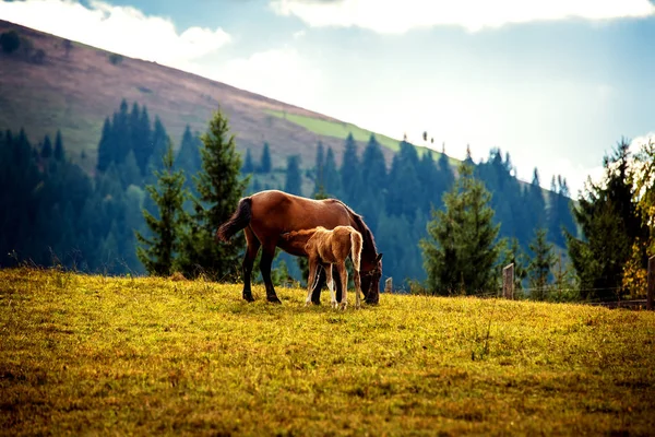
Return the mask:
{"type": "Polygon", "coordinates": [[[169,19],[135,8],[91,0],[0,1],[3,20],[124,56],[178,67],[229,43],[222,28],[189,27],[178,33],[169,19]]]}

